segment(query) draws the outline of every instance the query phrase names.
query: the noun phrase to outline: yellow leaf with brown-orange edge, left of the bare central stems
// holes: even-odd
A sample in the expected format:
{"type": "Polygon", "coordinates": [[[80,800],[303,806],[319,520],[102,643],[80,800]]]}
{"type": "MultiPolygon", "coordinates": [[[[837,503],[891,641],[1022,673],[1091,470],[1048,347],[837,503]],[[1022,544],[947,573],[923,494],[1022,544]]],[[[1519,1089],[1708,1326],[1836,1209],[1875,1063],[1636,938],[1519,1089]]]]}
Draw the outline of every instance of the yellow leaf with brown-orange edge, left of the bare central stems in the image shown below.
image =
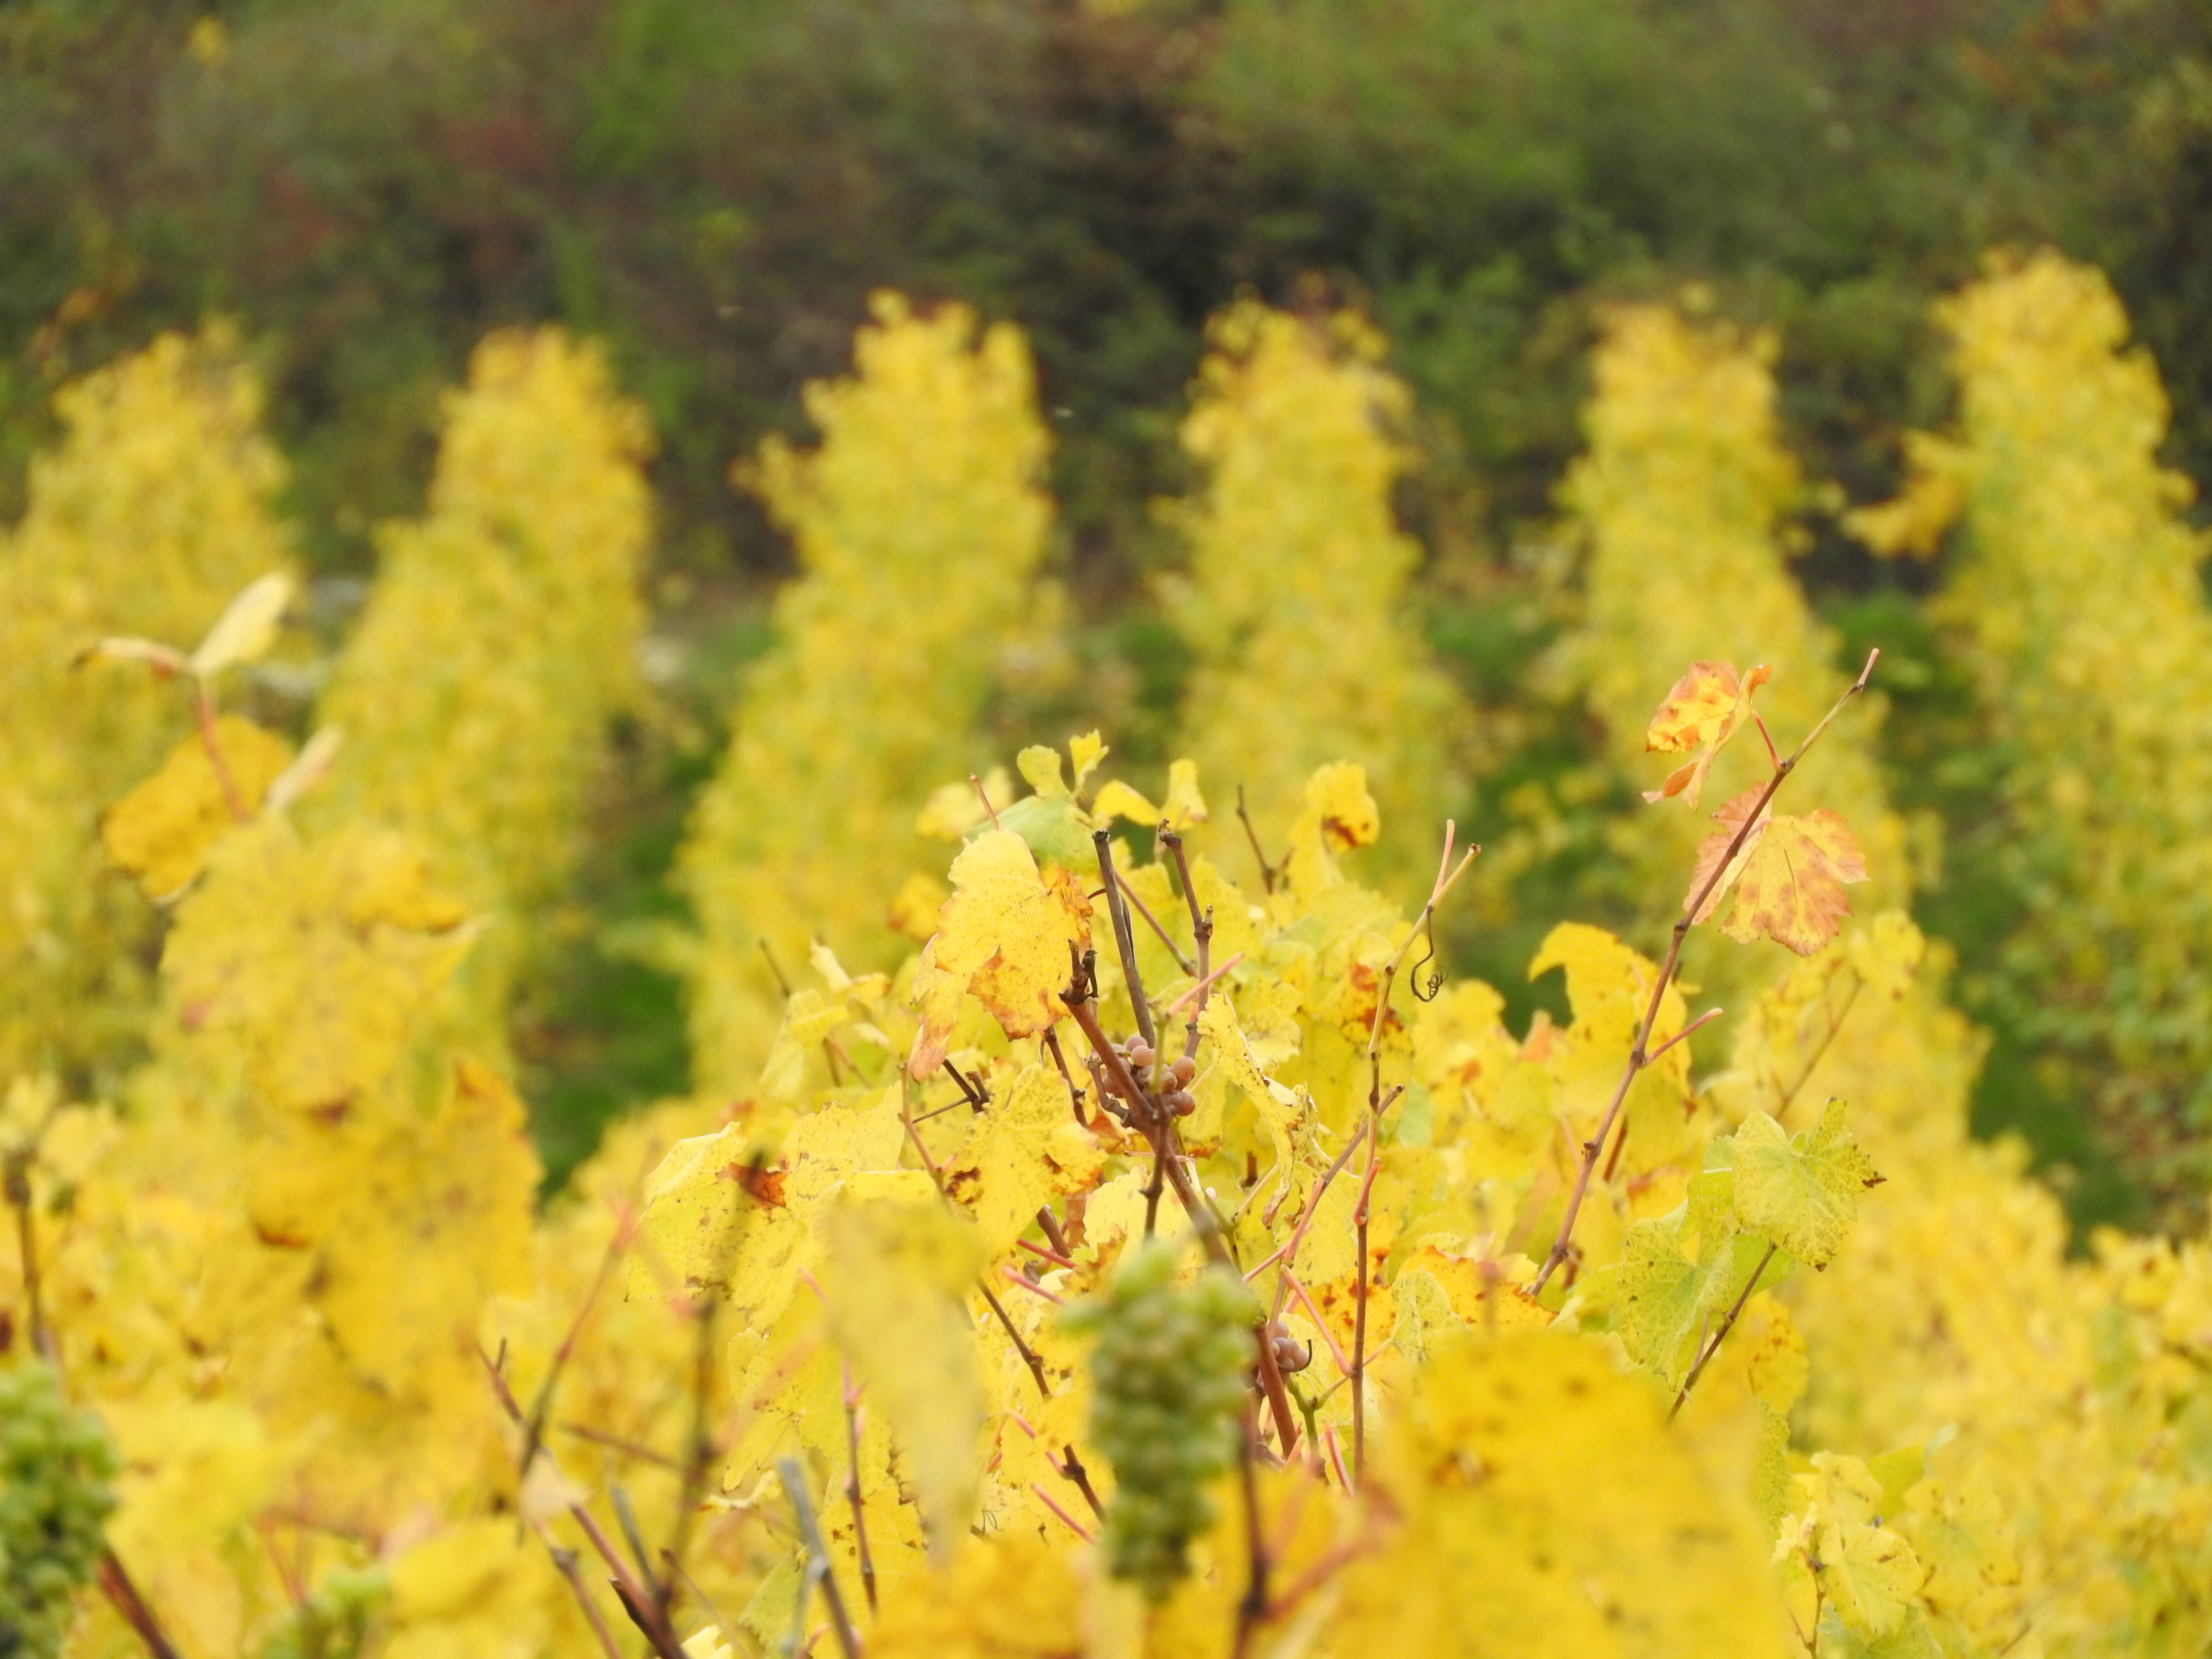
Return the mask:
{"type": "Polygon", "coordinates": [[[1044,874],[1011,830],[987,830],[953,858],[953,896],[914,969],[922,1029],[907,1068],[927,1077],[945,1060],[960,998],[973,995],[1009,1037],[1033,1037],[1062,1018],[1068,947],[1091,945],[1091,900],[1060,867],[1044,874]]]}

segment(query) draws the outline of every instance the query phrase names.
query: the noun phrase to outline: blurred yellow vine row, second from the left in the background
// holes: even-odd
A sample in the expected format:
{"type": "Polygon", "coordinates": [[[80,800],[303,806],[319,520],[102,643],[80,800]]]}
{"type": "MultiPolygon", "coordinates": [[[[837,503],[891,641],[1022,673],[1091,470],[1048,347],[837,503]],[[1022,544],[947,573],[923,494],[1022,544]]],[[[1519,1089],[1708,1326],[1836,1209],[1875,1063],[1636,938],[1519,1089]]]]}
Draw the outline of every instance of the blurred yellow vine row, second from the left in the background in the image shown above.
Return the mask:
{"type": "Polygon", "coordinates": [[[429,513],[383,529],[316,708],[343,748],[305,821],[403,830],[487,918],[456,1009],[480,1048],[502,1042],[608,723],[635,699],[648,451],[597,347],[555,330],[487,338],[447,398],[429,513]]]}

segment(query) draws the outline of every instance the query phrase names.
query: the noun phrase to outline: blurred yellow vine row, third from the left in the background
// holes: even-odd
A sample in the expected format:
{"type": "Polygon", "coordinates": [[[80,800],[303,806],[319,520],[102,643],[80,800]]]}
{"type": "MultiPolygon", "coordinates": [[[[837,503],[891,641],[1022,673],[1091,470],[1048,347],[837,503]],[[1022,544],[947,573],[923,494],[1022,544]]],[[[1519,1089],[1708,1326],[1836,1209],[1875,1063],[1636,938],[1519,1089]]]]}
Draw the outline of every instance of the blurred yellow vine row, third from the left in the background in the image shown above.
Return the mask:
{"type": "Polygon", "coordinates": [[[889,960],[885,907],[925,858],[914,818],[980,770],[969,732],[1051,524],[1022,336],[978,338],[967,310],[916,316],[894,294],[874,319],[856,374],[807,387],[821,447],[772,440],[739,473],[801,575],[681,858],[701,931],[692,1082],[710,1095],[743,1095],[768,1057],[783,995],[763,947],[785,975],[812,940],[889,960]]]}

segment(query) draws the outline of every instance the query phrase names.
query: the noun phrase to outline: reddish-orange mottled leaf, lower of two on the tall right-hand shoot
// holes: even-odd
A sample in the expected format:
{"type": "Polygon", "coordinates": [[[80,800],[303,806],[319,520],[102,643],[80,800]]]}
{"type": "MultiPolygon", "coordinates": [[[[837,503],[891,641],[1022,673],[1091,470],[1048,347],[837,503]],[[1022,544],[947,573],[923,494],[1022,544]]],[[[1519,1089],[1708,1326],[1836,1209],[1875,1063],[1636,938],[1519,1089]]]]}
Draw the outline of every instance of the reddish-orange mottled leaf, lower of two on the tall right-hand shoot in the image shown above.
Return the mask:
{"type": "MultiPolygon", "coordinates": [[[[1686,909],[1721,865],[1728,843],[1736,838],[1761,794],[1763,787],[1745,790],[1712,814],[1721,827],[1699,843],[1697,872],[1683,898],[1686,909]]],[[[1805,814],[1770,812],[1752,825],[1752,834],[1743,838],[1721,880],[1705,894],[1697,920],[1708,920],[1725,902],[1721,931],[1728,938],[1750,945],[1765,933],[1798,956],[1812,956],[1836,938],[1843,918],[1851,914],[1845,885],[1865,878],[1867,858],[1840,816],[1827,807],[1805,814]]]]}

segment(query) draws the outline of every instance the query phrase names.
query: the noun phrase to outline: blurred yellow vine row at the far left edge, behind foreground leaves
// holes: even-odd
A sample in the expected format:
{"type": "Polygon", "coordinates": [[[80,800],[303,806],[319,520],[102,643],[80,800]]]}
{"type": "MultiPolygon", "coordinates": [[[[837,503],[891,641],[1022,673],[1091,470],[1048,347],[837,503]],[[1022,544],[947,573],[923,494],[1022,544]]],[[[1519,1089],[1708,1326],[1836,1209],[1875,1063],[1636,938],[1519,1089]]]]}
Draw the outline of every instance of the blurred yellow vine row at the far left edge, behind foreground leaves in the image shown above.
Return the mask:
{"type": "Polygon", "coordinates": [[[173,684],[73,672],[106,635],[199,639],[290,562],[270,515],[283,469],[226,330],[164,334],[64,387],[62,442],[33,458],[0,540],[0,1077],[111,1071],[135,1042],[153,916],[104,869],[100,812],[190,730],[173,684]]]}

